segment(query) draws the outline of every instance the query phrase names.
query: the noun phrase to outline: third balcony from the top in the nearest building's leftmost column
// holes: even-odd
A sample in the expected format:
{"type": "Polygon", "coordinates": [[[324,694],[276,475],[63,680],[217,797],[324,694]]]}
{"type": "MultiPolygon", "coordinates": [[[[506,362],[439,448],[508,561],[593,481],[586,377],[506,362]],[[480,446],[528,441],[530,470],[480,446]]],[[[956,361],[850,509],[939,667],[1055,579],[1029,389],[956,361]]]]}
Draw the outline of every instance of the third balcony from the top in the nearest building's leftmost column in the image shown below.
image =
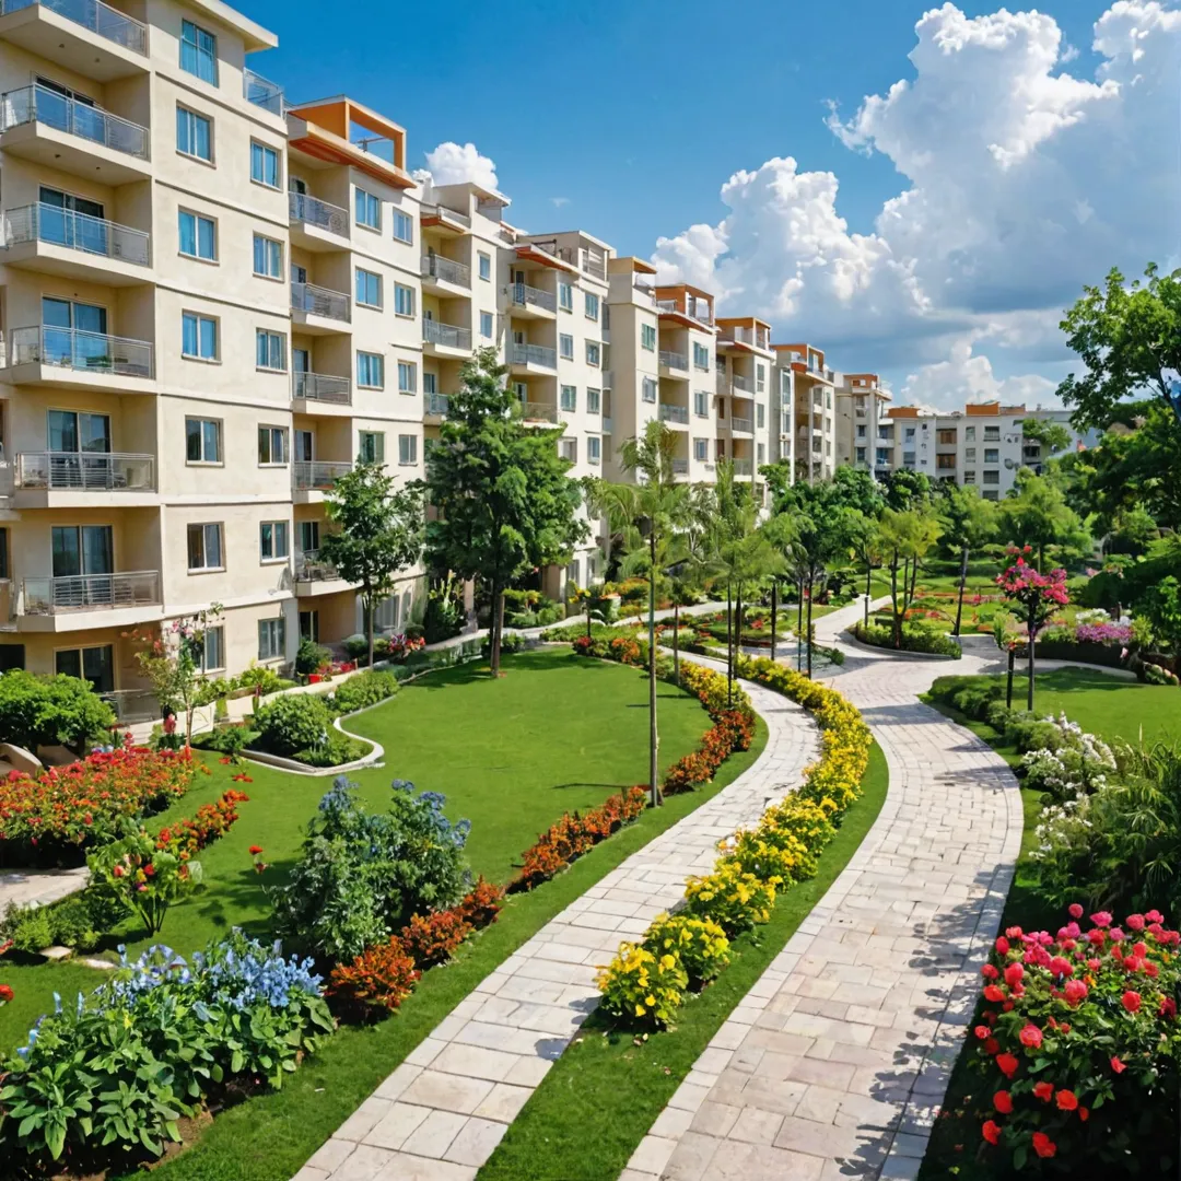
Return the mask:
{"type": "Polygon", "coordinates": [[[151,237],[139,229],[39,203],[6,209],[5,263],[84,282],[149,282],[151,237]]]}

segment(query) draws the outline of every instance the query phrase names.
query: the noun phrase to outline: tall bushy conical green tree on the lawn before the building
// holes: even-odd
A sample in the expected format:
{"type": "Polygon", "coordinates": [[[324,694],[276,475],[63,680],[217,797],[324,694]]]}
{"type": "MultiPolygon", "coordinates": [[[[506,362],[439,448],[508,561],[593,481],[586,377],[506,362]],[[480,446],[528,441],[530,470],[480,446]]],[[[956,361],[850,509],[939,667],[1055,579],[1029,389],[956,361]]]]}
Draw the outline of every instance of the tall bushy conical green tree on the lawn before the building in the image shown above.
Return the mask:
{"type": "Polygon", "coordinates": [[[587,536],[570,464],[557,454],[561,430],[526,426],[504,385],[495,348],[481,348],[459,371],[439,439],[426,458],[426,526],[432,566],[484,579],[491,592],[492,676],[501,667],[504,590],[526,570],[569,561],[587,536]]]}

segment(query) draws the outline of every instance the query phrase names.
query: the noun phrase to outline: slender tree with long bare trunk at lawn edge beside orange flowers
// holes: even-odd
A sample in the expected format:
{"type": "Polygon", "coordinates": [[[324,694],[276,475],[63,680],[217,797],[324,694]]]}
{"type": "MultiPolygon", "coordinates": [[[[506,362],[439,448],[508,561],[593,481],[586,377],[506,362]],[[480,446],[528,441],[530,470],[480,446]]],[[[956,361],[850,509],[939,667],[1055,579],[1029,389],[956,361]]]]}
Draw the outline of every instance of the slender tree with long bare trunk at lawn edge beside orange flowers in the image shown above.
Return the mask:
{"type": "Polygon", "coordinates": [[[639,438],[619,449],[620,466],[635,483],[589,482],[589,502],[606,515],[611,528],[622,534],[622,569],[648,581],[648,792],[650,803],[660,803],[660,735],[657,729],[657,582],[681,557],[679,534],[685,529],[691,505],[687,484],[678,484],[672,461],[677,433],[653,418],[639,438]]]}

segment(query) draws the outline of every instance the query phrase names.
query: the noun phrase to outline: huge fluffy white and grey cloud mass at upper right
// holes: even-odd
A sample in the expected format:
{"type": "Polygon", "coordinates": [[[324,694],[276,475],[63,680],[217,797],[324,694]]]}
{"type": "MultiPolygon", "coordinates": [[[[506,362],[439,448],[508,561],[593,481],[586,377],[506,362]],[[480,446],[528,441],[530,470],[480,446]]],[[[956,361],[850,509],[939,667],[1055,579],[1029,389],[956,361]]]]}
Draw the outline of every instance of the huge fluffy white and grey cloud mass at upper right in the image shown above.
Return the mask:
{"type": "Polygon", "coordinates": [[[911,373],[924,400],[1029,397],[974,346],[1062,360],[1059,312],[1084,282],[1177,261],[1181,9],[1116,0],[1095,24],[1091,77],[1068,68],[1077,52],[1043,13],[945,4],[915,35],[913,79],[829,118],[902,178],[872,233],[849,231],[833,174],[775,158],[735,174],[726,216],[660,239],[654,261],[849,367],[911,373]]]}

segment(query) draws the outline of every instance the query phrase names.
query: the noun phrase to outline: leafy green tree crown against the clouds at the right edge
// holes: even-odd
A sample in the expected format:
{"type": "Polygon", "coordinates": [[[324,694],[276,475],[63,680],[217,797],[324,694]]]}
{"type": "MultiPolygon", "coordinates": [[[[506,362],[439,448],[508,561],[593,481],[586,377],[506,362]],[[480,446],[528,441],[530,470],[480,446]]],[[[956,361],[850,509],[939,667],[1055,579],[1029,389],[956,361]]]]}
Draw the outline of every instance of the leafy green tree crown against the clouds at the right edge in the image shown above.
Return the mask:
{"type": "Polygon", "coordinates": [[[1125,283],[1113,268],[1107,286],[1084,287],[1059,325],[1087,372],[1071,373],[1058,397],[1087,426],[1105,429],[1117,403],[1149,390],[1181,428],[1181,270],[1162,275],[1149,263],[1144,278],[1125,283]]]}

